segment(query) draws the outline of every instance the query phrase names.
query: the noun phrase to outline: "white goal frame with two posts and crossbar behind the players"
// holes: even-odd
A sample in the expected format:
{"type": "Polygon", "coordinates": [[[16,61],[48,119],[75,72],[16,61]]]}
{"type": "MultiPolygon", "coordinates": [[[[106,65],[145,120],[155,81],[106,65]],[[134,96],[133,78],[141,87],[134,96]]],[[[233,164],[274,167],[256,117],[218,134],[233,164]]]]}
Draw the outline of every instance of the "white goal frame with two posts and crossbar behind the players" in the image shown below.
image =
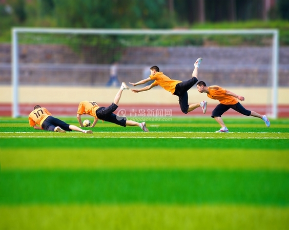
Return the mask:
{"type": "Polygon", "coordinates": [[[271,35],[272,40],[272,95],[271,111],[269,116],[278,117],[278,56],[279,56],[279,31],[277,29],[228,29],[228,30],[170,30],[170,29],[60,29],[60,28],[12,28],[12,116],[19,117],[19,44],[20,33],[49,33],[49,34],[106,34],[106,35],[271,35]]]}

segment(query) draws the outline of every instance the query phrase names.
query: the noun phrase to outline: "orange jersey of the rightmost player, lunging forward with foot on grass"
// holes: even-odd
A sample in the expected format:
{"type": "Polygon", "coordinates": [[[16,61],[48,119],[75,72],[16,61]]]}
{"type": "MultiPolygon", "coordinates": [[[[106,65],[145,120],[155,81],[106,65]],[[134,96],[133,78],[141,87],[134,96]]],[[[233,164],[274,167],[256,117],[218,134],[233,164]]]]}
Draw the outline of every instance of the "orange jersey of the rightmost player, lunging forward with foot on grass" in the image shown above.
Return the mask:
{"type": "Polygon", "coordinates": [[[226,90],[219,86],[209,86],[208,97],[220,101],[221,104],[236,104],[238,103],[238,99],[231,95],[226,94],[226,90]]]}

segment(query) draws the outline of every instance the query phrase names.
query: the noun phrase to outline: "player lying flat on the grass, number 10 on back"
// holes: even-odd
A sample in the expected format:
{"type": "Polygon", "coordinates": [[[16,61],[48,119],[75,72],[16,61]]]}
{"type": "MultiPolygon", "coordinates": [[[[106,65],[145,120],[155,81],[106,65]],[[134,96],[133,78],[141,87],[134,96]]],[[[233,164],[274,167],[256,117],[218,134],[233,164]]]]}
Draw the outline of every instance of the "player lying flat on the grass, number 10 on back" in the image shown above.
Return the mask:
{"type": "Polygon", "coordinates": [[[92,133],[91,130],[82,130],[73,124],[67,124],[51,116],[51,113],[46,108],[40,107],[39,105],[34,107],[33,111],[29,114],[28,120],[30,126],[35,130],[47,130],[59,133],[74,130],[82,133],[92,133]]]}

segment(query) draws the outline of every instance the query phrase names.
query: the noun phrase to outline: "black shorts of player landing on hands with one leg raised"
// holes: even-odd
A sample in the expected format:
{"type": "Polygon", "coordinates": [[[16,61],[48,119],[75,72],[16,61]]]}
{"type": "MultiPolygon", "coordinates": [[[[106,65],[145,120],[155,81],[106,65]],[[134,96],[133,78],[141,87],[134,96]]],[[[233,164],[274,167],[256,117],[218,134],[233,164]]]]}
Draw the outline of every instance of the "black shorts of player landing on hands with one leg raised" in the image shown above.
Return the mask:
{"type": "Polygon", "coordinates": [[[119,126],[126,127],[127,118],[119,117],[113,112],[118,108],[115,103],[112,103],[109,107],[100,107],[95,113],[98,119],[118,124],[119,126]]]}

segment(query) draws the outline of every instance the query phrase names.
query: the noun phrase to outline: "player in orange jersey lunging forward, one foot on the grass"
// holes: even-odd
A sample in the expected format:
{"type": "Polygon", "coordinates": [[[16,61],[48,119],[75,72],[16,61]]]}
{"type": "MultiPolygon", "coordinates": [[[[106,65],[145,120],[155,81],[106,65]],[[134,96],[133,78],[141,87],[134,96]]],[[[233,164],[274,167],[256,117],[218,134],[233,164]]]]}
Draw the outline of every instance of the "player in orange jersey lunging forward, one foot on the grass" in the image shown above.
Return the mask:
{"type": "Polygon", "coordinates": [[[207,96],[218,100],[220,104],[213,110],[212,117],[215,118],[215,120],[220,124],[221,129],[216,131],[218,133],[228,133],[229,130],[226,128],[223,119],[221,118],[221,115],[228,111],[230,108],[245,115],[245,116],[253,116],[253,117],[259,117],[261,118],[267,127],[270,127],[270,121],[266,117],[266,115],[260,115],[259,113],[256,113],[254,111],[246,110],[241,103],[238,101],[245,100],[243,96],[239,96],[229,90],[225,90],[219,86],[207,86],[205,82],[199,81],[197,83],[197,89],[199,93],[207,93],[207,96]]]}

